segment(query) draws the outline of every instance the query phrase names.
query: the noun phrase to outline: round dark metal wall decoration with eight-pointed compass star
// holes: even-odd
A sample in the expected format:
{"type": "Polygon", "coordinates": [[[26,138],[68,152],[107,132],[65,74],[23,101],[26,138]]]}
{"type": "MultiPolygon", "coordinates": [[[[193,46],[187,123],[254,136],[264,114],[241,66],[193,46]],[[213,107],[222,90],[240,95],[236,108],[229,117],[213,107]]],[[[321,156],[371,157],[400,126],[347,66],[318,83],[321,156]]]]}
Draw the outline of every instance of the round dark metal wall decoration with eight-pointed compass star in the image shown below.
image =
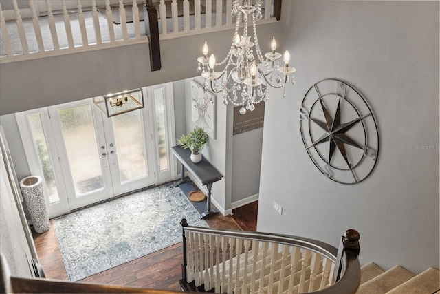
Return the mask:
{"type": "Polygon", "coordinates": [[[327,178],[355,184],[373,171],[379,154],[376,120],[354,87],[333,78],[312,85],[300,109],[307,154],[327,178]]]}

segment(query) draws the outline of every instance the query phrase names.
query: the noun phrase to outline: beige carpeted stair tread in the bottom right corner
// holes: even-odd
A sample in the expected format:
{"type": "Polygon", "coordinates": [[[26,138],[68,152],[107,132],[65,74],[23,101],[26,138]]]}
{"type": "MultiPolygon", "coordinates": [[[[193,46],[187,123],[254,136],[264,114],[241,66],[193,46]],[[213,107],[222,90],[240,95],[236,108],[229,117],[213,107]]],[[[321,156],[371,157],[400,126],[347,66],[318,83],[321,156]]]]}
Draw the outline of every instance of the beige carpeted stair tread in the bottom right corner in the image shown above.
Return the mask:
{"type": "Polygon", "coordinates": [[[389,294],[411,293],[411,294],[425,294],[434,293],[440,290],[440,271],[430,267],[426,271],[419,273],[411,280],[404,282],[400,286],[393,288],[389,294]]]}

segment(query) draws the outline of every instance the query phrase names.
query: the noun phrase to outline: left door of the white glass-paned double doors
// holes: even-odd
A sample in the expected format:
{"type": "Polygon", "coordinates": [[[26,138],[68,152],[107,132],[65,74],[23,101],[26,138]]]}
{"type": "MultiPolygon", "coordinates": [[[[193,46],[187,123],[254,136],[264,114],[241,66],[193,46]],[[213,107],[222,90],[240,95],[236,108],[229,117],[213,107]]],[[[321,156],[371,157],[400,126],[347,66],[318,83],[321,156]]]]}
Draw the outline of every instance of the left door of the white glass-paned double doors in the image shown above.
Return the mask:
{"type": "Polygon", "coordinates": [[[49,107],[70,209],[111,198],[103,127],[89,99],[49,107]]]}

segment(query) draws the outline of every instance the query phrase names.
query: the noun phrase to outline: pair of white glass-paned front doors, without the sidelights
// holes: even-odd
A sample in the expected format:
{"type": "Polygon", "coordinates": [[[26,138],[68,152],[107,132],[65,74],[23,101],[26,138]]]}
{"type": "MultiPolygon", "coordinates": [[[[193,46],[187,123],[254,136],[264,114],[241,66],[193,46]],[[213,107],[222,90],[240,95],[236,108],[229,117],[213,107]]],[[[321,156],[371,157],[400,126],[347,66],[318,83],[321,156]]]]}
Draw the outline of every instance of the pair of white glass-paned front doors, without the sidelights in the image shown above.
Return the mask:
{"type": "Polygon", "coordinates": [[[87,99],[49,107],[49,114],[70,209],[154,184],[142,112],[107,118],[87,99]]]}

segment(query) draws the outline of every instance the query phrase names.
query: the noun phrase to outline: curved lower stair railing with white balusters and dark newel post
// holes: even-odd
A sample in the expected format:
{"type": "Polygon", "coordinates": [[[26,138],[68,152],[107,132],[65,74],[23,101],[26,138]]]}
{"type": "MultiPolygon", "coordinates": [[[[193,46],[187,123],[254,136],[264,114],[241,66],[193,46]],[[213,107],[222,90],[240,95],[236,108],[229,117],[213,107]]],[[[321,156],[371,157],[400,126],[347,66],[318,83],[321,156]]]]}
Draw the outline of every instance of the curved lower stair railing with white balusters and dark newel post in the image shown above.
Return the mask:
{"type": "Polygon", "coordinates": [[[296,236],[181,224],[183,291],[354,294],[360,284],[360,236],[353,229],[337,249],[296,236]]]}

